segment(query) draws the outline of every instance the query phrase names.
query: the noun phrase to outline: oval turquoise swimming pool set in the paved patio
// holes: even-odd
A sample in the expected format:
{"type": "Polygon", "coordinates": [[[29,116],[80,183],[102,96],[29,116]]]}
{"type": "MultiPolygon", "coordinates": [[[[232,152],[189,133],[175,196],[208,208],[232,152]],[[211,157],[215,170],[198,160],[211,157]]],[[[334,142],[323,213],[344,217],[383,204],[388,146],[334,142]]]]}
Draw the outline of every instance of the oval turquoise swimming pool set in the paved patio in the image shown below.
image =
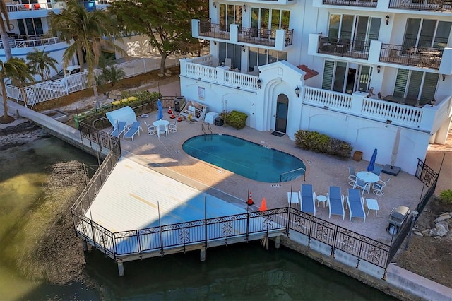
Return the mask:
{"type": "Polygon", "coordinates": [[[225,134],[194,136],[182,149],[194,158],[260,182],[291,181],[306,170],[303,161],[293,155],[225,134]]]}

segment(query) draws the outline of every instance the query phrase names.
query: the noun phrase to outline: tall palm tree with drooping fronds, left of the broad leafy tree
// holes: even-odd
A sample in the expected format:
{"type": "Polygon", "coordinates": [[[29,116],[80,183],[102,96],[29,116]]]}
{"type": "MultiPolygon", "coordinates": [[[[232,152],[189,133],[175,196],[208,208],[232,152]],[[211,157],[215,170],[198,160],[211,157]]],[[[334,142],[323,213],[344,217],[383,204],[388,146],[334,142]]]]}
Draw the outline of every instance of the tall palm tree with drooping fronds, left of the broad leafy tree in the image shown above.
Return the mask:
{"type": "Polygon", "coordinates": [[[74,55],[77,55],[81,69],[84,69],[83,65],[86,64],[88,83],[93,86],[94,98],[99,107],[94,67],[99,61],[101,43],[126,55],[123,49],[114,44],[115,38],[120,40],[119,30],[114,27],[106,11],[88,12],[77,0],[67,1],[66,8],[58,14],[51,11],[49,17],[52,30],[58,33],[61,40],[68,44],[73,40],[73,43],[64,51],[64,66],[74,55]],[[83,59],[83,53],[85,59],[83,59]]]}

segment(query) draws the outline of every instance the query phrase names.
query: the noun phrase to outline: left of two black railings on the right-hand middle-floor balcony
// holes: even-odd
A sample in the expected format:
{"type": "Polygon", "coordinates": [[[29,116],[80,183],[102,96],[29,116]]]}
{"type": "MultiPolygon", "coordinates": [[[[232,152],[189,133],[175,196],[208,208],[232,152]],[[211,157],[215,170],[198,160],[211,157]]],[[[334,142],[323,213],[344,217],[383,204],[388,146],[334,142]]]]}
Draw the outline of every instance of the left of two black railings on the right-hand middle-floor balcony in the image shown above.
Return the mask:
{"type": "Polygon", "coordinates": [[[321,37],[319,39],[319,53],[332,54],[340,57],[369,58],[369,41],[321,37]]]}

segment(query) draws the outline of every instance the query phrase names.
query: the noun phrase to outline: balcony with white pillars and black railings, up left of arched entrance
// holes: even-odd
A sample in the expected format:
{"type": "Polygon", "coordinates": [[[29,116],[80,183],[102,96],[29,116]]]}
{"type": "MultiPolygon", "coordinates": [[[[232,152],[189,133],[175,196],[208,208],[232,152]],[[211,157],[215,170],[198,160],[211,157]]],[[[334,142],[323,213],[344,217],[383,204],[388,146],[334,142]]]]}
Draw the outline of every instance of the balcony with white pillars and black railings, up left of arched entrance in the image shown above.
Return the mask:
{"type": "Polygon", "coordinates": [[[292,45],[293,38],[293,29],[242,28],[236,24],[231,24],[230,28],[227,28],[224,24],[208,20],[191,20],[191,28],[193,37],[249,46],[262,45],[277,50],[284,50],[285,47],[292,45]]]}

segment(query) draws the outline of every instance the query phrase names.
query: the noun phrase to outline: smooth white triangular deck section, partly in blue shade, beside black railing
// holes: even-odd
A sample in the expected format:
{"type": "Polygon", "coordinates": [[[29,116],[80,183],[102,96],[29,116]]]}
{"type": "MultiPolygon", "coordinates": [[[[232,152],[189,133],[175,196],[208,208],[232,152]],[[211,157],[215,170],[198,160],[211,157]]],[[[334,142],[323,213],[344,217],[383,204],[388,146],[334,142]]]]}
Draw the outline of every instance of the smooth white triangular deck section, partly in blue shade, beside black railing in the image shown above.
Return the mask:
{"type": "Polygon", "coordinates": [[[246,210],[122,157],[86,217],[112,232],[246,213],[246,210]],[[158,205],[157,205],[158,202],[158,205]]]}

